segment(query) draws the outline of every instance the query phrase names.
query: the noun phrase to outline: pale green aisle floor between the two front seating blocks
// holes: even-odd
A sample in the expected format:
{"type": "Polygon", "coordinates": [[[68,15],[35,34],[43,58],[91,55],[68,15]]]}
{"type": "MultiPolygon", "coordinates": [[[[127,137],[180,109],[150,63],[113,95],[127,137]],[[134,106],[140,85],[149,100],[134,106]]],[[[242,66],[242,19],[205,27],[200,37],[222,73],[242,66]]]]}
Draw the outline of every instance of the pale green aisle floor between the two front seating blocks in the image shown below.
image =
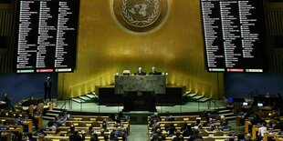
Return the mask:
{"type": "Polygon", "coordinates": [[[147,125],[131,125],[129,141],[147,141],[147,125]]]}

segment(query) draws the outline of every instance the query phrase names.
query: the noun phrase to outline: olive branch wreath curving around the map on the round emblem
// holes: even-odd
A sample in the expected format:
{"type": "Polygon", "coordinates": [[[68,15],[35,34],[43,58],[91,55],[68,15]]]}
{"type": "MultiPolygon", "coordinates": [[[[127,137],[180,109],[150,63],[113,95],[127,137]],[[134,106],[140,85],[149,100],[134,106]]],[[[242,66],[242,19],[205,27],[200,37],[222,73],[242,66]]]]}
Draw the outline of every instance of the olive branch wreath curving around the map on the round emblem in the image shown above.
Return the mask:
{"type": "MultiPolygon", "coordinates": [[[[146,2],[150,3],[150,0],[146,0],[146,2]]],[[[158,16],[158,12],[159,12],[159,0],[153,0],[153,12],[152,15],[150,15],[146,20],[142,20],[142,21],[137,21],[134,20],[130,13],[128,12],[127,9],[127,4],[128,4],[128,0],[122,0],[122,14],[124,15],[124,17],[127,19],[128,22],[130,22],[132,25],[147,25],[147,24],[151,24],[156,17],[158,16]]]]}

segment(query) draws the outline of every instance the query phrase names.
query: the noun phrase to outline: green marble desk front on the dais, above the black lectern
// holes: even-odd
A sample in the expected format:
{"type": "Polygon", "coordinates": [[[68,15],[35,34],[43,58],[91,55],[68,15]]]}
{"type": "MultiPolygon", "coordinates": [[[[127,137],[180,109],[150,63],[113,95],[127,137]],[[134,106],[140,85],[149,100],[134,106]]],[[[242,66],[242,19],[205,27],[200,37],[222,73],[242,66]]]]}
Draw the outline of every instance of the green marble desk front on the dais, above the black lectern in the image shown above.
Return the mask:
{"type": "Polygon", "coordinates": [[[127,91],[152,91],[165,94],[166,76],[115,76],[115,94],[127,91]]]}

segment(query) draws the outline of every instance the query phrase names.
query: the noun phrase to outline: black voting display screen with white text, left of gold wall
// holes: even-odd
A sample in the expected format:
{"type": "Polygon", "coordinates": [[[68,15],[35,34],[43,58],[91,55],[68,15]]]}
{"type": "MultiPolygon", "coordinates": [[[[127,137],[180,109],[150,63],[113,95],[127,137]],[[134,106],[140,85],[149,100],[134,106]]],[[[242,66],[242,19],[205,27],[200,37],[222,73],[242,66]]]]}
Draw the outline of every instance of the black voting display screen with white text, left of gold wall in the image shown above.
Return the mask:
{"type": "Polygon", "coordinates": [[[79,0],[17,0],[16,73],[73,72],[79,0]]]}

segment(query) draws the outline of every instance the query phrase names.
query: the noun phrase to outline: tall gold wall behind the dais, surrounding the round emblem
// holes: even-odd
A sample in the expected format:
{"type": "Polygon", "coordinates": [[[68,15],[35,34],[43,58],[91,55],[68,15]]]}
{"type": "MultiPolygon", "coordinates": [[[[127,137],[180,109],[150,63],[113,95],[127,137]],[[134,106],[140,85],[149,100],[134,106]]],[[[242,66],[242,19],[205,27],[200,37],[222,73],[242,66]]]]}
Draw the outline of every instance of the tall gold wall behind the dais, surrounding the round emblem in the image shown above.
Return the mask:
{"type": "Polygon", "coordinates": [[[132,34],[111,15],[110,0],[81,0],[77,68],[58,75],[58,98],[80,96],[114,83],[116,72],[152,66],[167,84],[204,96],[224,96],[223,75],[207,73],[199,0],[170,0],[167,20],[149,34],[132,34]]]}

